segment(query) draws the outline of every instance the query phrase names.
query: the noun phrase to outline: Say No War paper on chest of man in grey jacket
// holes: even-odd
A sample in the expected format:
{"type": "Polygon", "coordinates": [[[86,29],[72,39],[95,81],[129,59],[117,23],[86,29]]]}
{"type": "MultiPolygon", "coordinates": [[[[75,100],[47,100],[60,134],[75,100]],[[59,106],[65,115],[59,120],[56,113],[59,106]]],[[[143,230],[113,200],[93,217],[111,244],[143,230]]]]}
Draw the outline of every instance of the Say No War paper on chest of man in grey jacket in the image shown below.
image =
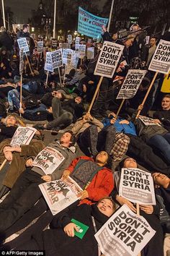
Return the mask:
{"type": "Polygon", "coordinates": [[[46,147],[37,154],[32,165],[41,168],[45,174],[52,174],[64,161],[63,155],[54,148],[46,147]]]}

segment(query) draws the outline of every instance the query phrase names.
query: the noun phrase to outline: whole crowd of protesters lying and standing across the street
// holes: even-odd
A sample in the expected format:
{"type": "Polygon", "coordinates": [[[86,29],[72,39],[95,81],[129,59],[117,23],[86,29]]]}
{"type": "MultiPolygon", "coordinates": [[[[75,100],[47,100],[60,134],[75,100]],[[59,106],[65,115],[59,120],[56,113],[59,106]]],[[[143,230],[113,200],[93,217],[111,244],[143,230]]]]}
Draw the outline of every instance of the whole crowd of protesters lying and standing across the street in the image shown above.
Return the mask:
{"type": "MultiPolygon", "coordinates": [[[[91,216],[99,230],[115,213],[116,207],[125,204],[136,213],[133,202],[119,195],[117,184],[122,168],[141,168],[152,174],[156,194],[156,205],[140,205],[140,215],[156,231],[141,254],[169,255],[170,247],[164,249],[164,241],[169,239],[170,233],[170,78],[167,93],[161,93],[164,74],[159,73],[146,103],[144,106],[141,103],[153,79],[154,73],[148,66],[156,45],[161,38],[170,40],[170,33],[159,38],[150,35],[148,42],[146,35],[146,30],[138,24],[123,34],[117,30],[112,36],[103,26],[101,42],[80,41],[86,48],[94,47],[94,59],[84,57],[77,69],[71,69],[66,76],[63,67],[60,68],[61,84],[58,69],[49,74],[48,82],[44,70],[45,53],[61,48],[61,42],[54,47],[52,41],[46,40],[42,54],[37,54],[37,41],[30,37],[28,25],[15,37],[1,27],[0,163],[7,161],[0,171],[1,249],[45,249],[49,256],[78,255],[77,252],[82,256],[97,256],[96,230],[91,216]],[[17,38],[27,38],[30,45],[32,70],[24,59],[22,85],[17,38]],[[94,69],[104,40],[125,47],[112,79],[104,77],[102,80],[89,113],[89,103],[100,78],[94,75],[94,69]],[[129,69],[146,69],[146,76],[135,97],[126,100],[116,116],[120,106],[117,94],[129,69]],[[138,110],[141,115],[151,117],[155,125],[146,126],[135,119],[138,110]],[[10,141],[19,126],[20,116],[25,123],[32,121],[39,132],[30,145],[14,148],[10,141]],[[50,175],[32,167],[35,156],[46,146],[43,130],[61,135],[49,146],[57,149],[64,161],[50,175]],[[68,176],[83,189],[81,200],[53,216],[38,185],[68,176]],[[38,221],[32,223],[37,217],[38,221]],[[90,227],[86,239],[76,239],[77,227],[71,223],[71,218],[90,227]],[[32,226],[28,226],[30,223],[32,226]],[[50,229],[45,229],[49,223],[50,229]],[[14,237],[10,241],[11,236],[14,237]]],[[[75,43],[71,44],[71,49],[75,50],[75,43]]]]}

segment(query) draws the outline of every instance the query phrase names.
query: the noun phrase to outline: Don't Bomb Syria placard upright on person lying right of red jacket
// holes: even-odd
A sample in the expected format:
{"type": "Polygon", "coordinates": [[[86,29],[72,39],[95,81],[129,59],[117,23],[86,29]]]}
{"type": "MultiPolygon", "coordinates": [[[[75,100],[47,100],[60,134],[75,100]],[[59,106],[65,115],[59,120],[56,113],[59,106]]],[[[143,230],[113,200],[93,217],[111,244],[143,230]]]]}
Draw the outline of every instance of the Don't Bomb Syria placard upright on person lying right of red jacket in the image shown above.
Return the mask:
{"type": "Polygon", "coordinates": [[[122,168],[119,195],[130,202],[156,205],[153,178],[138,168],[122,168]]]}

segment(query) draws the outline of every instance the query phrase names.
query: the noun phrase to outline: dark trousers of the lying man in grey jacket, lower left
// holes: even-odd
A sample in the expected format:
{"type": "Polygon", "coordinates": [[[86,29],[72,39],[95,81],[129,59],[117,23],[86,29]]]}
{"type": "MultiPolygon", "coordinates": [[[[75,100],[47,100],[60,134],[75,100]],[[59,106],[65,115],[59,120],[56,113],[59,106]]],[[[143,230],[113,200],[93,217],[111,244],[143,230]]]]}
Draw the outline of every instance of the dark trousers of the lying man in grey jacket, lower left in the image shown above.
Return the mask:
{"type": "Polygon", "coordinates": [[[40,174],[35,173],[31,168],[27,168],[19,176],[9,195],[0,204],[0,231],[8,229],[35,205],[35,202],[42,197],[38,185],[43,182],[40,174]]]}

